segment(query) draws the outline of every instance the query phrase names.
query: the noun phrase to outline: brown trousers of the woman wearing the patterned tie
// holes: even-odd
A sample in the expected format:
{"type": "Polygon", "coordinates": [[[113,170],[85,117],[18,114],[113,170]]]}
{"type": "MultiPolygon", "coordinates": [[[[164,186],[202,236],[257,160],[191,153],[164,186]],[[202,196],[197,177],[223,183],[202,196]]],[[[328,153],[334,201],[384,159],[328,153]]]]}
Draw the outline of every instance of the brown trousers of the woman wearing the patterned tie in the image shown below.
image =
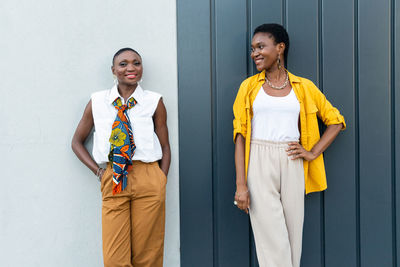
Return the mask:
{"type": "Polygon", "coordinates": [[[133,162],[127,187],[112,194],[112,167],[101,180],[105,267],[162,267],[167,177],[157,162],[133,162]]]}

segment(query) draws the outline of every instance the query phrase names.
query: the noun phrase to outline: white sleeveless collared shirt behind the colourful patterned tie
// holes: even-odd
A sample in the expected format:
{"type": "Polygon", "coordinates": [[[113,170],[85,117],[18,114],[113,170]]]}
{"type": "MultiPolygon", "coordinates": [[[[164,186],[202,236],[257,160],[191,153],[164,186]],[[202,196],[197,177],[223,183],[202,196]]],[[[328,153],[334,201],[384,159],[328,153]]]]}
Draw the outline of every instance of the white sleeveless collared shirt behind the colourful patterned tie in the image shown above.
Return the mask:
{"type": "MultiPolygon", "coordinates": [[[[98,164],[108,162],[109,138],[112,124],[117,116],[117,110],[112,102],[117,97],[120,97],[124,104],[124,99],[119,95],[116,86],[110,90],[95,92],[91,96],[94,120],[93,158],[98,164]]],[[[130,97],[137,101],[137,104],[127,111],[136,145],[132,160],[158,161],[162,158],[162,151],[160,141],[154,132],[153,115],[161,95],[145,91],[138,85],[130,97]]]]}

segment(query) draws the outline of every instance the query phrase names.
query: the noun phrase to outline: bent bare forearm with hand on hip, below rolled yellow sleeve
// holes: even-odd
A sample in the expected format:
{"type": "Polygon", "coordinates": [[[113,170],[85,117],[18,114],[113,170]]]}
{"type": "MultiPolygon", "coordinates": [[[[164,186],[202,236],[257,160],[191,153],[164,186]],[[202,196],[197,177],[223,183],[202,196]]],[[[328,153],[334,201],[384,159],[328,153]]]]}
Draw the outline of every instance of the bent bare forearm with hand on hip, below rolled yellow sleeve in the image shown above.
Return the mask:
{"type": "Polygon", "coordinates": [[[303,146],[297,142],[289,143],[289,148],[287,149],[288,155],[293,156],[292,159],[304,158],[307,161],[316,159],[329,147],[330,144],[332,144],[342,127],[342,123],[329,125],[321,139],[310,151],[305,150],[303,146]]]}

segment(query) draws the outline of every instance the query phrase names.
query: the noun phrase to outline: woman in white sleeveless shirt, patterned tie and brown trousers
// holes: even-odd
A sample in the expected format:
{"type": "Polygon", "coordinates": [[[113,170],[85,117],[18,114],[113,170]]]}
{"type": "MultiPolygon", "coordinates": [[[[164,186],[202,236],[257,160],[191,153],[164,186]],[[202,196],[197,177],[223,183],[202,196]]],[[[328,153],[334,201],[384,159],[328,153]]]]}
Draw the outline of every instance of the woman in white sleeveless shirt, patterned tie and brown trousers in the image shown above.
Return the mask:
{"type": "Polygon", "coordinates": [[[120,49],[112,63],[118,82],[92,94],[72,149],[101,181],[104,266],[162,267],[167,112],[160,94],[138,84],[143,66],[135,50],[120,49]],[[92,157],[84,142],[93,127],[92,157]]]}

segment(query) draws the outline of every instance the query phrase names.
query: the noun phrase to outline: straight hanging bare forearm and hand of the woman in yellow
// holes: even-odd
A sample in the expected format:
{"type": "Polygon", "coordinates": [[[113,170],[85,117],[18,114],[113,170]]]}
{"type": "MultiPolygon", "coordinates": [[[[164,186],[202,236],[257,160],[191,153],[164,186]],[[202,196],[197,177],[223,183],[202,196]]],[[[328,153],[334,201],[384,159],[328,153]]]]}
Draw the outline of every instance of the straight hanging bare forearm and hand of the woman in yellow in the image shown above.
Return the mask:
{"type": "Polygon", "coordinates": [[[248,213],[250,207],[249,192],[245,174],[245,139],[237,134],[235,142],[236,194],[235,200],[239,209],[248,213]]]}

